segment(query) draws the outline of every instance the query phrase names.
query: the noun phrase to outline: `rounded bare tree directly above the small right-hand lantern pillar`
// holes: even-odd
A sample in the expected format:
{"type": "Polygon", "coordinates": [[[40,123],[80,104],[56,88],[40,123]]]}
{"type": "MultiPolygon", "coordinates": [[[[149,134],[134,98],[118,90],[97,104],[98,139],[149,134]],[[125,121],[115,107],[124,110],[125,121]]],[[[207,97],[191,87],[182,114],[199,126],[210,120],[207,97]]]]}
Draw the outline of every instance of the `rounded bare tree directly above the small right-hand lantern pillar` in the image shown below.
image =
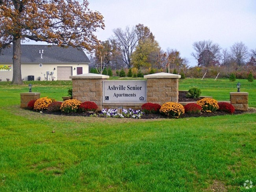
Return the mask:
{"type": "Polygon", "coordinates": [[[236,42],[230,47],[230,52],[239,66],[244,64],[245,60],[248,58],[248,48],[243,42],[236,42]]]}

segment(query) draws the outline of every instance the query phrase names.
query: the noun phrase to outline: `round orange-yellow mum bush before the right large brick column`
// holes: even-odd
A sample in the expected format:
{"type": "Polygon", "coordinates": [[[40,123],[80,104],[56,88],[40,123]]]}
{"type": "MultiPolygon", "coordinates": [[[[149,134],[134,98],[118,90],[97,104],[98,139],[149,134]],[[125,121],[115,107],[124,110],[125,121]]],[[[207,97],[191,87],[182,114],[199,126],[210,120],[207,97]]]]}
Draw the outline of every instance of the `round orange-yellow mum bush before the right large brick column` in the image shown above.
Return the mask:
{"type": "Polygon", "coordinates": [[[182,114],[185,113],[185,109],[180,103],[167,102],[163,103],[163,105],[161,106],[160,113],[163,113],[167,116],[179,118],[180,116],[182,116],[182,114]]]}

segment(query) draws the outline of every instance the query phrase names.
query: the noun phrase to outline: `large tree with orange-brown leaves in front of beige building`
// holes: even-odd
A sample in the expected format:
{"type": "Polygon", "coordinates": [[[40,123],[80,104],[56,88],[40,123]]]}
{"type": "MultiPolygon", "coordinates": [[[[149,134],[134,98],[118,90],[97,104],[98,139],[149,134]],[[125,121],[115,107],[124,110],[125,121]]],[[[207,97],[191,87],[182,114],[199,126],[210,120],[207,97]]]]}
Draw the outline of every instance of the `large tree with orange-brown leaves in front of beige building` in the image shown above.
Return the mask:
{"type": "Polygon", "coordinates": [[[61,47],[94,50],[103,16],[83,0],[0,0],[0,50],[13,44],[13,84],[22,84],[20,44],[44,41],[61,47]]]}

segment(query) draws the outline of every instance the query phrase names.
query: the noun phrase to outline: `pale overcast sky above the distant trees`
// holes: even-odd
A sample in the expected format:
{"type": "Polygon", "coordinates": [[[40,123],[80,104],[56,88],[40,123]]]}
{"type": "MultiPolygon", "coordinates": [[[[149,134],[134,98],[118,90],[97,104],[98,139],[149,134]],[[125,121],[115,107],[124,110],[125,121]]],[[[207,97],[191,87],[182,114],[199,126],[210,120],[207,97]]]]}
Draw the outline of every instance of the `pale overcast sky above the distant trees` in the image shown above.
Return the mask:
{"type": "Polygon", "coordinates": [[[193,42],[211,40],[230,49],[243,42],[256,48],[256,0],[88,0],[89,9],[104,16],[105,30],[96,35],[106,41],[113,29],[147,26],[162,50],[176,49],[189,65],[193,42]]]}

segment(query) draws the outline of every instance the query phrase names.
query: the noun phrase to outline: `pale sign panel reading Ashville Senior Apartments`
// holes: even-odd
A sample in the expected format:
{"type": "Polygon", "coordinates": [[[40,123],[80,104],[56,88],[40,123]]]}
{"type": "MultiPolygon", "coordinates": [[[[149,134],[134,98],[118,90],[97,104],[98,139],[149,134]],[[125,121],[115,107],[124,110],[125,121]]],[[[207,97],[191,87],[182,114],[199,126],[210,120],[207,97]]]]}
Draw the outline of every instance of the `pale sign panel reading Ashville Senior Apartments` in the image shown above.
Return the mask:
{"type": "Polygon", "coordinates": [[[103,81],[103,102],[146,102],[146,81],[103,81]]]}

